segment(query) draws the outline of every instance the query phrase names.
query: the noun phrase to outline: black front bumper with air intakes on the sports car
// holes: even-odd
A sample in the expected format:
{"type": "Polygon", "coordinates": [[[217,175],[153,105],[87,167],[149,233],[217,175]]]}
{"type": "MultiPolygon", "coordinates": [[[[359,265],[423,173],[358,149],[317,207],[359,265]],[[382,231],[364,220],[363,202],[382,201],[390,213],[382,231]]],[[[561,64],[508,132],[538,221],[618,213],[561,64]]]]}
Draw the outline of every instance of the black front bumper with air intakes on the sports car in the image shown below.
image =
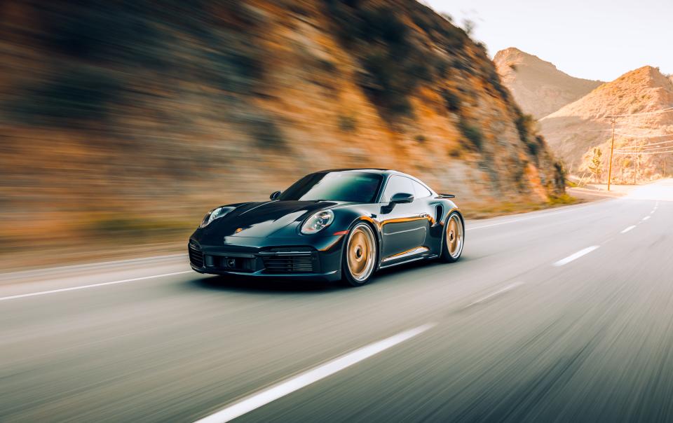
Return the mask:
{"type": "Polygon", "coordinates": [[[192,237],[189,261],[196,272],[212,275],[336,281],[341,279],[342,237],[226,237],[219,246],[192,237]]]}

